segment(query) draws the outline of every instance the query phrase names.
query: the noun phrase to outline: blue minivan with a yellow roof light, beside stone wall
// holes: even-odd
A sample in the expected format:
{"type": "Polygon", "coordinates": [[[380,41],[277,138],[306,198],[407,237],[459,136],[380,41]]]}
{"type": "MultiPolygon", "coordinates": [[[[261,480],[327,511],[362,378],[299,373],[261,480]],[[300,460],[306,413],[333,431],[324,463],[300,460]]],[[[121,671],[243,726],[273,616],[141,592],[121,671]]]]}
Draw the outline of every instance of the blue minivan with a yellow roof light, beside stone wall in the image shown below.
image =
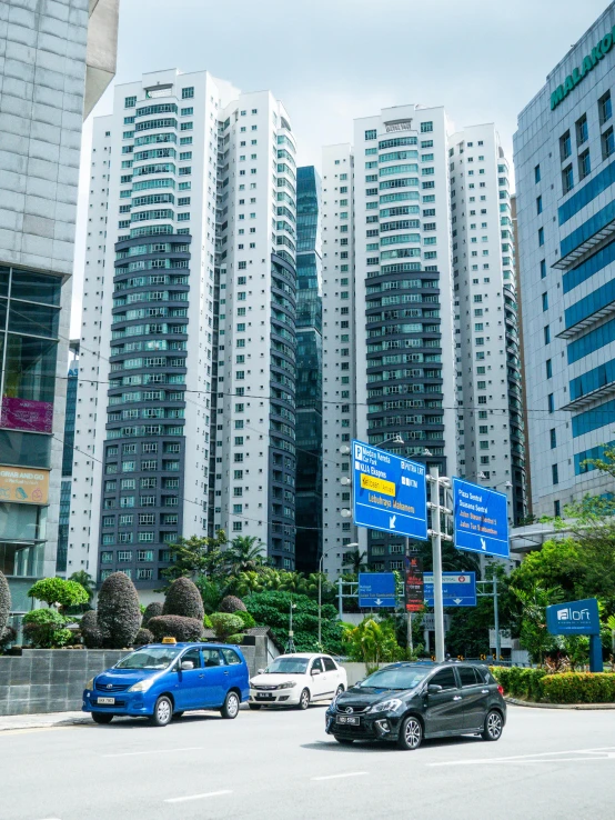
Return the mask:
{"type": "Polygon", "coordinates": [[[249,677],[238,647],[165,638],[140,647],[89,680],[82,709],[97,723],[125,714],[167,726],[191,709],[216,709],[232,720],[250,696],[249,677]]]}

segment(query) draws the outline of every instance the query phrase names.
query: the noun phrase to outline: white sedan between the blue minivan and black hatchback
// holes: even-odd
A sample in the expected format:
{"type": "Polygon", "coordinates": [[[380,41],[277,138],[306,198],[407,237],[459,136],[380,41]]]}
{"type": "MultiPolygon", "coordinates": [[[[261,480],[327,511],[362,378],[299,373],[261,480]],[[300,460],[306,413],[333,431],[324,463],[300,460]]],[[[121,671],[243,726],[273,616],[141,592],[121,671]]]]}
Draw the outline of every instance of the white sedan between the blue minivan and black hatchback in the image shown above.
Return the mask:
{"type": "Polygon", "coordinates": [[[330,700],[347,687],[346,670],[327,654],[281,654],[250,681],[250,709],[330,700]]]}

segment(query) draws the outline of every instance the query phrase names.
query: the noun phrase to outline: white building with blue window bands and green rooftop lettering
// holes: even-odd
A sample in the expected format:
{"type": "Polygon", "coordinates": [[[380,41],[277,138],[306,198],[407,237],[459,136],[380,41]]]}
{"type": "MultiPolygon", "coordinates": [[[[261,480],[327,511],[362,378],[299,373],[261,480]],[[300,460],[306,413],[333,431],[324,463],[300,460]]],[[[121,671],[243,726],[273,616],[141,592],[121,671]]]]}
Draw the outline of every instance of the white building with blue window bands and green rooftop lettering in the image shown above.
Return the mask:
{"type": "Polygon", "coordinates": [[[514,139],[532,511],[613,479],[584,466],[615,434],[615,4],[553,69],[514,139]]]}

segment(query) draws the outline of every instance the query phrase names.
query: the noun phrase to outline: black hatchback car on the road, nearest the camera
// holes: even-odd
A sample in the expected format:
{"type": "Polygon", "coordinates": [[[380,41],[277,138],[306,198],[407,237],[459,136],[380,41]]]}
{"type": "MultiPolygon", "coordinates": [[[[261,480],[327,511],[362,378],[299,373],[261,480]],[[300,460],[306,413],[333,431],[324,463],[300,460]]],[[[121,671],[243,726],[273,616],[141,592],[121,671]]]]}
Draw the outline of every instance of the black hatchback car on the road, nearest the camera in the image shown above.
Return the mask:
{"type": "Polygon", "coordinates": [[[400,749],[456,734],[500,740],[506,722],[502,693],[478,663],[392,663],[332,701],[326,733],[340,743],[386,740],[400,749]]]}

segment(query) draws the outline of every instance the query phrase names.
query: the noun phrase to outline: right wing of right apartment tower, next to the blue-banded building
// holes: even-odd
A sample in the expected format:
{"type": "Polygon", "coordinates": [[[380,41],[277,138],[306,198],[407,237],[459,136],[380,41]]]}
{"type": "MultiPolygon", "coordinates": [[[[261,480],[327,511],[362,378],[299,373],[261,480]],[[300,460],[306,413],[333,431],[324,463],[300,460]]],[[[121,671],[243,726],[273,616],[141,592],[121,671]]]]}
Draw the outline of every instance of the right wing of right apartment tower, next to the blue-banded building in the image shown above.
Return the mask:
{"type": "Polygon", "coordinates": [[[460,476],[526,514],[510,167],[495,127],[450,137],[460,476]]]}

